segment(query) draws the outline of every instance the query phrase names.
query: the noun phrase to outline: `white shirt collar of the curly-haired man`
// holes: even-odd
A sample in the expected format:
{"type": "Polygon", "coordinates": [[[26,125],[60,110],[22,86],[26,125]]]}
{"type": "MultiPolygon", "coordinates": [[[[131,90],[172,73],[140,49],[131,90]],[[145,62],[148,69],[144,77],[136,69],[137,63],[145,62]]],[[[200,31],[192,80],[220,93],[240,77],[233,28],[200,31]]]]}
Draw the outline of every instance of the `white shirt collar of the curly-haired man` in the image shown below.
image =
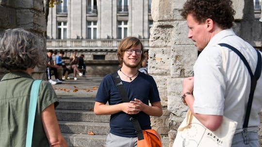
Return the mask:
{"type": "Polygon", "coordinates": [[[233,31],[233,29],[224,29],[221,30],[220,32],[218,32],[217,34],[215,34],[213,36],[213,38],[210,40],[210,42],[207,44],[207,46],[205,48],[208,48],[209,46],[213,46],[218,44],[218,42],[227,37],[227,36],[231,36],[231,35],[236,35],[233,31]]]}

